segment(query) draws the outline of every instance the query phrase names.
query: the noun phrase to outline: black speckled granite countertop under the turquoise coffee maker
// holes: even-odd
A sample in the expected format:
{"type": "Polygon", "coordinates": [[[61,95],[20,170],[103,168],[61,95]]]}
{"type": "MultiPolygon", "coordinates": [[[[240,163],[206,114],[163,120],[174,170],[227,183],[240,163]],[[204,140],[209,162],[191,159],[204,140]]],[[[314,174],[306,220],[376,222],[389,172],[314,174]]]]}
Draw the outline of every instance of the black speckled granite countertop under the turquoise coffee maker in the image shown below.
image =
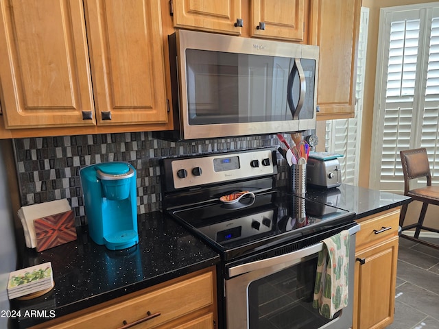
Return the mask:
{"type": "Polygon", "coordinates": [[[62,317],[219,263],[216,252],[162,212],[139,215],[139,244],[111,251],[78,229],[78,240],[36,252],[23,267],[51,262],[55,287],[29,301],[12,301],[19,328],[62,317]],[[38,316],[30,317],[31,311],[38,316]]]}

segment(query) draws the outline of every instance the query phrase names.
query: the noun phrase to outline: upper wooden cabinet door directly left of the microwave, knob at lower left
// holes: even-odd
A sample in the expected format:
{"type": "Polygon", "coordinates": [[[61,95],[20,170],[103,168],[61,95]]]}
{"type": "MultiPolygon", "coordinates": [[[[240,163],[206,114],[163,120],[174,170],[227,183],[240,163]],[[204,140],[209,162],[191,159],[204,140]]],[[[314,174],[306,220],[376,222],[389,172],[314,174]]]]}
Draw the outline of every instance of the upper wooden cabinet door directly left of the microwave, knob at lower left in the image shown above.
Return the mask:
{"type": "Polygon", "coordinates": [[[98,125],[165,123],[160,0],[86,0],[98,125]]]}

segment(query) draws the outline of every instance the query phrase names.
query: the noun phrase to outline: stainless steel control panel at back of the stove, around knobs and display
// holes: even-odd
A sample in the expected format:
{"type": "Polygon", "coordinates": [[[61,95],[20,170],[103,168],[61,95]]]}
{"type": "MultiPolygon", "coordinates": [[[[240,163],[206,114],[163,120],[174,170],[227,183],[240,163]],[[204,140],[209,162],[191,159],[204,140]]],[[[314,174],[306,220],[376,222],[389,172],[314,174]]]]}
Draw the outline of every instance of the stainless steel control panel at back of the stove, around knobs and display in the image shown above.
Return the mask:
{"type": "Polygon", "coordinates": [[[273,163],[276,159],[272,158],[270,149],[261,149],[253,152],[243,152],[234,154],[216,154],[202,158],[188,158],[172,160],[171,167],[174,180],[174,188],[187,188],[200,184],[211,184],[216,182],[226,182],[228,180],[238,180],[244,178],[254,178],[261,175],[274,174],[273,163]],[[239,169],[215,171],[213,161],[215,159],[227,159],[230,157],[239,158],[239,169]],[[262,160],[269,159],[270,165],[263,165],[262,160]],[[253,160],[259,162],[259,167],[252,167],[253,160]],[[192,169],[200,168],[201,175],[193,175],[192,169]],[[185,170],[187,176],[180,178],[178,171],[185,170]]]}

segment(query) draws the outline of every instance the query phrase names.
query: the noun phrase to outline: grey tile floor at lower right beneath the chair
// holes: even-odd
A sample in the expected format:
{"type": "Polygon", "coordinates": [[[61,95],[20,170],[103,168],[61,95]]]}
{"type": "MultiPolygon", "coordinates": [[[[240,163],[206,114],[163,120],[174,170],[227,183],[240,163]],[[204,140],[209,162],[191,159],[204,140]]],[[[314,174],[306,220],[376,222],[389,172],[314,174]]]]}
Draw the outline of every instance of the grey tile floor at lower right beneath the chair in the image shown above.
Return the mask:
{"type": "Polygon", "coordinates": [[[439,249],[399,239],[395,297],[386,329],[439,329],[439,249]]]}

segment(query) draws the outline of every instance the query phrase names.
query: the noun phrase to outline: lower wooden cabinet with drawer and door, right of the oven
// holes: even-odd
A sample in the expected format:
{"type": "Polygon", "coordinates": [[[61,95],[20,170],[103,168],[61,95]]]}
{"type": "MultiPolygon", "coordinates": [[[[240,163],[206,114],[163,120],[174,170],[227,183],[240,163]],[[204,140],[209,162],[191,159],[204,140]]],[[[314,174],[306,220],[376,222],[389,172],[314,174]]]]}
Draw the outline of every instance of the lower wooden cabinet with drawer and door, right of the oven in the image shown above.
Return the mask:
{"type": "Polygon", "coordinates": [[[385,328],[394,319],[399,209],[359,221],[353,329],[385,328]]]}

